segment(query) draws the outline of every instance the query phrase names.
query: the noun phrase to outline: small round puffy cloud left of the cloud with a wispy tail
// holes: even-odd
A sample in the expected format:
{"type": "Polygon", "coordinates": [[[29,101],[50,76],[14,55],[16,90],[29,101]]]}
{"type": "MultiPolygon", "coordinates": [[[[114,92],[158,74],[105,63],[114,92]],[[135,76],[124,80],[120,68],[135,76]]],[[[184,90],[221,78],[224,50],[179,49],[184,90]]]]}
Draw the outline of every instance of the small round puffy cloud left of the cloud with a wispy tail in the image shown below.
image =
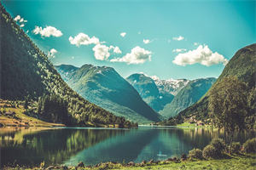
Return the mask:
{"type": "Polygon", "coordinates": [[[110,56],[109,49],[108,46],[102,44],[96,44],[96,46],[92,48],[94,56],[98,60],[107,60],[110,56]]]}

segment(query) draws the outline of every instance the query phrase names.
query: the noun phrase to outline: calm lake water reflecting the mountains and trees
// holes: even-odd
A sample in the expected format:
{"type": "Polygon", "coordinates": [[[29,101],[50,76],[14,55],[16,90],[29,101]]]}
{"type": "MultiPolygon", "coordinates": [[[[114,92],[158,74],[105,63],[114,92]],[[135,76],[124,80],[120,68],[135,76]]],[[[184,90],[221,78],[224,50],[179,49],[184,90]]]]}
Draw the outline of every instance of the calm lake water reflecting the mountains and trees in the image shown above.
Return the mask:
{"type": "MultiPolygon", "coordinates": [[[[34,166],[95,165],[105,161],[163,160],[203,148],[221,134],[205,129],[150,128],[0,128],[0,167],[18,163],[34,166]]],[[[237,135],[244,142],[247,135],[237,135]]]]}

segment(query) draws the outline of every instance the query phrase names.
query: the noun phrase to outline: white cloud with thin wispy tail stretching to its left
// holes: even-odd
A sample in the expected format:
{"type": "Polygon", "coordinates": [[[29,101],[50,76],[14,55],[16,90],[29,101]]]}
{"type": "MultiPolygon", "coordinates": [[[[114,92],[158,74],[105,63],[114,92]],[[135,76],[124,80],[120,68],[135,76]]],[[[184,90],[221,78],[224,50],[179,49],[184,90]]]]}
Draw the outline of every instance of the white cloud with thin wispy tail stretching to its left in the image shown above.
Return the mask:
{"type": "Polygon", "coordinates": [[[128,65],[130,64],[142,64],[147,60],[151,60],[151,51],[148,51],[144,48],[135,47],[131,49],[130,54],[125,54],[122,58],[111,59],[111,62],[125,62],[128,65]]]}

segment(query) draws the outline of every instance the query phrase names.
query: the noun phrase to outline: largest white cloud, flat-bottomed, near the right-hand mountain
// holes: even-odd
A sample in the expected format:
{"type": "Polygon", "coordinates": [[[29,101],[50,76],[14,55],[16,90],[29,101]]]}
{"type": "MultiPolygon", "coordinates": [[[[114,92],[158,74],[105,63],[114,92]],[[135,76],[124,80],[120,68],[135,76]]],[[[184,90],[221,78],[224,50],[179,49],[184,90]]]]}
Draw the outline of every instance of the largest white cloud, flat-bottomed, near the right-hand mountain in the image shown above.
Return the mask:
{"type": "Polygon", "coordinates": [[[189,50],[187,53],[177,54],[172,63],[176,65],[193,65],[195,63],[200,63],[201,65],[216,65],[218,63],[223,63],[226,65],[228,59],[225,59],[223,55],[217,52],[212,53],[212,50],[208,48],[207,45],[200,45],[194,50],[189,50]]]}

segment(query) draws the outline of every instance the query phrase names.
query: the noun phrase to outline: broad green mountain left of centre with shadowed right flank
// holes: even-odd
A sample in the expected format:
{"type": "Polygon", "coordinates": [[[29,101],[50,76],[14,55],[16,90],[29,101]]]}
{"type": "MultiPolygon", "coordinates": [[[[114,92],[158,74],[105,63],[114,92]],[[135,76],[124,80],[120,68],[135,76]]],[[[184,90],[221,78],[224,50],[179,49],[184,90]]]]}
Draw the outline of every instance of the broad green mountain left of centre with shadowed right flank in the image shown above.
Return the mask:
{"type": "Polygon", "coordinates": [[[124,116],[133,122],[157,122],[160,115],[151,109],[131,84],[107,66],[58,65],[56,70],[84,99],[124,116]]]}

